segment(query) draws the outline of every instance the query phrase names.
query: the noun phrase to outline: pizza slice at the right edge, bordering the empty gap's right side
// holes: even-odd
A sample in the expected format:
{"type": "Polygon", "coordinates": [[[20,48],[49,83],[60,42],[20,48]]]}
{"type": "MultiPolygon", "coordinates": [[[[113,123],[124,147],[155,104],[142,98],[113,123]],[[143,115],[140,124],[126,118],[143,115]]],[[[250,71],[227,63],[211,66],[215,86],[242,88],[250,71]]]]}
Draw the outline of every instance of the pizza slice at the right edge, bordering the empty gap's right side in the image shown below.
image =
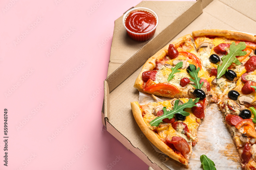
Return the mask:
{"type": "Polygon", "coordinates": [[[256,71],[244,73],[236,87],[223,95],[219,103],[225,123],[246,170],[256,169],[256,131],[253,118],[256,114],[256,71]],[[253,113],[253,114],[252,114],[253,113]]]}

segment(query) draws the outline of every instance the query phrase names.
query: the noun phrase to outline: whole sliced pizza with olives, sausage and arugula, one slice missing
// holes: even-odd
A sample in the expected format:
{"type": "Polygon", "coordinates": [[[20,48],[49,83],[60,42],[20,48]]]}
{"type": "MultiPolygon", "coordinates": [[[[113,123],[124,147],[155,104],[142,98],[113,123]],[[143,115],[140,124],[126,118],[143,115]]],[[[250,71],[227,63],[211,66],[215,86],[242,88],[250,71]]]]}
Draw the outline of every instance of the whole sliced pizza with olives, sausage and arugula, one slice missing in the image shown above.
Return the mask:
{"type": "Polygon", "coordinates": [[[164,46],[143,65],[134,87],[172,99],[131,102],[142,132],[170,158],[188,165],[205,109],[216,103],[242,167],[256,169],[255,53],[256,36],[217,29],[194,31],[164,46]]]}

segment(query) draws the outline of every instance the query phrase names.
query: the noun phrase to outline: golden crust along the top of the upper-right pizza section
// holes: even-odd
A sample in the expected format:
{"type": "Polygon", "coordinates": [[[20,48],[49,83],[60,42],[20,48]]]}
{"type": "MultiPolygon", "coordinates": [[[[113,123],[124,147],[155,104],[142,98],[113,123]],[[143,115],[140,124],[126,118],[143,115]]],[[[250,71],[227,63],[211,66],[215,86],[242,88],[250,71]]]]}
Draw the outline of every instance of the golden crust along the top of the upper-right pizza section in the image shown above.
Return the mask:
{"type": "Polygon", "coordinates": [[[214,36],[222,36],[228,39],[235,39],[238,41],[249,41],[256,43],[256,36],[246,34],[243,32],[236,31],[228,31],[228,30],[219,30],[219,29],[211,29],[211,30],[198,30],[192,32],[194,36],[205,36],[205,35],[214,35],[214,36]]]}

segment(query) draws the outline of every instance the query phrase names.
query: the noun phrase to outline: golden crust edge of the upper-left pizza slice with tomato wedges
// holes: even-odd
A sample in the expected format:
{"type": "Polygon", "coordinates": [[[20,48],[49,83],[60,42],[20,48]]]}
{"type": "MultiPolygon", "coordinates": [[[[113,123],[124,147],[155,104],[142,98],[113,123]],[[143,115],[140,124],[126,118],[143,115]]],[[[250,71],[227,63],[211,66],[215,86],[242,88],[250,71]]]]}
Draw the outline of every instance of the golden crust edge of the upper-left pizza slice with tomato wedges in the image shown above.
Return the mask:
{"type": "MultiPolygon", "coordinates": [[[[175,47],[178,47],[180,44],[184,43],[185,41],[189,40],[190,38],[191,38],[191,34],[187,34],[187,35],[184,35],[184,36],[178,38],[177,40],[173,41],[171,44],[173,44],[175,47]]],[[[138,75],[138,77],[134,83],[134,87],[136,89],[138,89],[139,91],[143,91],[143,89],[141,88],[143,86],[142,73],[144,71],[153,70],[156,66],[156,59],[158,59],[158,60],[163,59],[166,56],[165,50],[168,51],[168,47],[169,47],[169,44],[164,46],[155,55],[153,55],[146,61],[146,63],[143,65],[141,72],[138,75]]],[[[157,91],[154,91],[154,92],[147,91],[146,93],[158,95],[158,96],[170,97],[170,98],[187,98],[188,97],[187,94],[182,94],[182,93],[178,93],[176,95],[160,94],[157,91]]]]}

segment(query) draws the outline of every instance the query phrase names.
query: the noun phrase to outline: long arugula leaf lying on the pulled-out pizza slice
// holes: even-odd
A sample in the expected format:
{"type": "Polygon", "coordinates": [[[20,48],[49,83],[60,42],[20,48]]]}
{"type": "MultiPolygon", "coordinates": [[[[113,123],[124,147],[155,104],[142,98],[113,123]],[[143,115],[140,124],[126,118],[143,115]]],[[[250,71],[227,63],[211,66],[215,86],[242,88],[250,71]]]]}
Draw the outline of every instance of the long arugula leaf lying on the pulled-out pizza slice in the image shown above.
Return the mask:
{"type": "Polygon", "coordinates": [[[196,106],[195,103],[199,101],[199,98],[196,98],[194,101],[193,99],[189,99],[188,102],[181,104],[178,106],[179,99],[175,100],[173,110],[167,111],[166,107],[163,108],[164,114],[162,116],[157,117],[156,119],[152,120],[149,124],[151,126],[158,126],[161,122],[163,122],[163,119],[168,118],[172,119],[173,115],[175,113],[180,113],[183,116],[188,116],[189,113],[184,111],[185,108],[191,108],[193,106],[196,106]]]}

